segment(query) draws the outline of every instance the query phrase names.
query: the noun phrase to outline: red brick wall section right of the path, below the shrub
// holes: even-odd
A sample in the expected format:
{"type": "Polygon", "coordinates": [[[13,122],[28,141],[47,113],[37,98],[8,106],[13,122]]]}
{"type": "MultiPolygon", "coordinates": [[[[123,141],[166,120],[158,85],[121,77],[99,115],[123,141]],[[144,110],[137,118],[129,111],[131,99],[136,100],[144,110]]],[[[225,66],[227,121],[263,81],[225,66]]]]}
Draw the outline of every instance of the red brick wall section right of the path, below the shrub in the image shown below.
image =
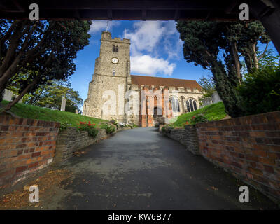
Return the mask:
{"type": "Polygon", "coordinates": [[[280,112],[196,125],[207,160],[280,200],[280,112]]]}

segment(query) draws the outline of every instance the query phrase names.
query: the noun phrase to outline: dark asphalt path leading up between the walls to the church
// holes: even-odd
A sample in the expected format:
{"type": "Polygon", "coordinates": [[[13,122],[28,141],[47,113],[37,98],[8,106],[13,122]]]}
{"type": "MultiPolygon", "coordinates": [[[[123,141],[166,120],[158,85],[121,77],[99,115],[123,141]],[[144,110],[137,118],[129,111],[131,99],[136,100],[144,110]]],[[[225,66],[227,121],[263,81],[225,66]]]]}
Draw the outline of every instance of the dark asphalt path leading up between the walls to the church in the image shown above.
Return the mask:
{"type": "Polygon", "coordinates": [[[244,183],[154,127],[118,132],[86,151],[66,162],[71,183],[42,199],[44,209],[277,209],[251,187],[250,202],[239,202],[244,183]]]}

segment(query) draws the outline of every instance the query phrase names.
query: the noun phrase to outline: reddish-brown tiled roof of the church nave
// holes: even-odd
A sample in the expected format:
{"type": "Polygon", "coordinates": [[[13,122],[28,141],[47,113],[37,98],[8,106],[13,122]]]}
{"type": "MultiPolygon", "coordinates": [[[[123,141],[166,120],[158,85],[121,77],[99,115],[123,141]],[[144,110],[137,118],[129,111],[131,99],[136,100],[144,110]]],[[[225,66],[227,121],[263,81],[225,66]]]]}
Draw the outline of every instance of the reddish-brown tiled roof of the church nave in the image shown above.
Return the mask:
{"type": "Polygon", "coordinates": [[[151,76],[131,76],[132,85],[155,85],[165,87],[183,87],[190,89],[202,90],[202,87],[195,80],[177,79],[177,78],[160,78],[151,76]]]}

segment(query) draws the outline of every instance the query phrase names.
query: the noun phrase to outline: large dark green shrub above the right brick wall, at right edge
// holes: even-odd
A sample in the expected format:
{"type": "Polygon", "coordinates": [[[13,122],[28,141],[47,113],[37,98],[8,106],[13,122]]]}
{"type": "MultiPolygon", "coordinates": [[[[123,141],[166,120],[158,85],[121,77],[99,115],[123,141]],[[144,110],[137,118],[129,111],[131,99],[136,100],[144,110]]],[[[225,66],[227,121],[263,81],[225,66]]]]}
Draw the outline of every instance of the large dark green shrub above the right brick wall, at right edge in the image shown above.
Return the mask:
{"type": "Polygon", "coordinates": [[[280,110],[280,69],[267,66],[249,73],[238,88],[246,115],[280,110]]]}

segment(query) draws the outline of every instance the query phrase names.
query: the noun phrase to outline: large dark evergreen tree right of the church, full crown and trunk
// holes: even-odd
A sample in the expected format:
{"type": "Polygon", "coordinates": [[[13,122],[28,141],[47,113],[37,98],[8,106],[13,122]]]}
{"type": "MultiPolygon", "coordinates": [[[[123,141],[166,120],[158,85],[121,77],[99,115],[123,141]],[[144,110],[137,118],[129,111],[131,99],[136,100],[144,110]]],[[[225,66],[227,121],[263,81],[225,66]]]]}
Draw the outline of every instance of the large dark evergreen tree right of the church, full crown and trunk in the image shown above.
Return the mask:
{"type": "Polygon", "coordinates": [[[231,117],[243,116],[237,92],[242,82],[240,57],[248,63],[252,57],[248,52],[258,49],[255,43],[269,41],[263,27],[258,22],[199,21],[178,22],[177,29],[186,61],[211,70],[226,112],[231,117]]]}

